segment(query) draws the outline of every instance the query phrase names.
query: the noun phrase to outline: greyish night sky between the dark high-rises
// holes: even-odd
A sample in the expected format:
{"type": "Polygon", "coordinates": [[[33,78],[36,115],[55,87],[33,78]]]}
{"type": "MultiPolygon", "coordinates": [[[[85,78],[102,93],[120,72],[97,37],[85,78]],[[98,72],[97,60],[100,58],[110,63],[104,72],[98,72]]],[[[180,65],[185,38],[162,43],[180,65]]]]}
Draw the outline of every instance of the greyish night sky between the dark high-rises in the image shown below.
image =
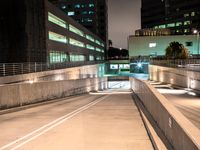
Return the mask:
{"type": "Polygon", "coordinates": [[[127,48],[127,38],[141,28],[141,0],[108,0],[108,30],[113,46],[127,48]]]}

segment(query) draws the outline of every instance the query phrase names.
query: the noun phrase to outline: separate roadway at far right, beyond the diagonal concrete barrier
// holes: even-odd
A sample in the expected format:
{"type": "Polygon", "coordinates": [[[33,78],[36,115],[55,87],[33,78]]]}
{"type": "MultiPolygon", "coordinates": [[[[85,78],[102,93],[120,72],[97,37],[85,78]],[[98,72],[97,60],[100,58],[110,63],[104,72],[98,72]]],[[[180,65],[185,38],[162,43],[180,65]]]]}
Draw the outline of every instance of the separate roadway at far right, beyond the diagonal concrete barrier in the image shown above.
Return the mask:
{"type": "Polygon", "coordinates": [[[151,82],[178,110],[200,129],[200,95],[190,89],[151,82]]]}

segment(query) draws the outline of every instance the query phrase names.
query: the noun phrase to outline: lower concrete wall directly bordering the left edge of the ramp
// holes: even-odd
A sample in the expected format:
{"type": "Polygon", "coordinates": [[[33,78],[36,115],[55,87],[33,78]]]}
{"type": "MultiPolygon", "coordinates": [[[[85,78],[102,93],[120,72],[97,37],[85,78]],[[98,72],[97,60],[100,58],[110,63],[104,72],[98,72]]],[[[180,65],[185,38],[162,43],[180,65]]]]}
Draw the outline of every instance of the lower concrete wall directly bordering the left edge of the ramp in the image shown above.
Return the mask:
{"type": "Polygon", "coordinates": [[[49,81],[0,86],[0,109],[107,88],[107,78],[49,81]]]}

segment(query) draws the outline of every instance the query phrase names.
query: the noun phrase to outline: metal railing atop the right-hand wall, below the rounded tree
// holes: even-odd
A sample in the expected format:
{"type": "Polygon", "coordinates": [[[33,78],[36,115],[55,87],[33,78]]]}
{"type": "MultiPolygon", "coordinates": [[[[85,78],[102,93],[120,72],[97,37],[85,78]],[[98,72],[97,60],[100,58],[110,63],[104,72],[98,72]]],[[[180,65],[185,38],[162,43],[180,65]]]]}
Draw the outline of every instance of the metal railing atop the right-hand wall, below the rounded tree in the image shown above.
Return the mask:
{"type": "Polygon", "coordinates": [[[183,68],[191,71],[200,71],[200,59],[150,59],[150,64],[164,67],[183,68]]]}

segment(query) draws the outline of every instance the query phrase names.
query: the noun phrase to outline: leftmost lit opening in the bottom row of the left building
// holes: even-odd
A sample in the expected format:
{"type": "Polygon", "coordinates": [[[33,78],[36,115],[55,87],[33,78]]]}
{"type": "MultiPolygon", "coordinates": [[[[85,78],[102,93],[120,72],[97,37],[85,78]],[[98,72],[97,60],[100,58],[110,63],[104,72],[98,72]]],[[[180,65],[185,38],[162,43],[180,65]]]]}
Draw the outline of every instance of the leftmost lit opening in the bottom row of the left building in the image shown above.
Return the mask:
{"type": "Polygon", "coordinates": [[[50,63],[62,63],[68,61],[67,54],[59,51],[50,51],[49,59],[50,63]]]}

